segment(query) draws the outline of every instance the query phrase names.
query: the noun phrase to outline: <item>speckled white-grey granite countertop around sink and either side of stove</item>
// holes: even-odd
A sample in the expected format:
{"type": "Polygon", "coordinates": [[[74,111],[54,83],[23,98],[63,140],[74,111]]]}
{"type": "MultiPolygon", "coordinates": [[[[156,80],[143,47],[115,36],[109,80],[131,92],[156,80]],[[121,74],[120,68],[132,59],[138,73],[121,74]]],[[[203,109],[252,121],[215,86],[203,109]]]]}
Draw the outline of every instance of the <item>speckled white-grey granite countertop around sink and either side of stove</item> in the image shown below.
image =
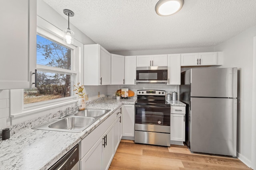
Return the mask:
{"type": "MultiPolygon", "coordinates": [[[[12,133],[10,139],[0,140],[0,170],[45,170],[50,168],[122,104],[134,104],[136,100],[136,97],[120,100],[105,97],[88,102],[86,108],[110,109],[111,111],[80,133],[31,129],[35,125],[49,121],[49,117],[14,125],[19,130],[12,133]],[[36,124],[34,121],[39,122],[36,124]]],[[[179,101],[167,102],[171,106],[186,106],[179,101]]],[[[59,115],[51,115],[52,119],[57,117],[59,115]]]]}

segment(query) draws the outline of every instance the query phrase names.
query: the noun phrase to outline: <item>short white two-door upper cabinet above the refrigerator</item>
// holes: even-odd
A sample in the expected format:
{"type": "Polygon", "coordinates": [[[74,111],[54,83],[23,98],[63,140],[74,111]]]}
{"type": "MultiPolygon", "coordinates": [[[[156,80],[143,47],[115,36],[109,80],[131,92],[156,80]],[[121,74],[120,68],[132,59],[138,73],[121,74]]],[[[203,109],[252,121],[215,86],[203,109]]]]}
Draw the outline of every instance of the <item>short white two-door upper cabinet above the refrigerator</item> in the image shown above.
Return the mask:
{"type": "MultiPolygon", "coordinates": [[[[181,54],[181,66],[221,65],[220,62],[217,62],[217,55],[219,54],[220,52],[181,54]]],[[[220,59],[220,57],[218,57],[218,59],[220,59]]]]}

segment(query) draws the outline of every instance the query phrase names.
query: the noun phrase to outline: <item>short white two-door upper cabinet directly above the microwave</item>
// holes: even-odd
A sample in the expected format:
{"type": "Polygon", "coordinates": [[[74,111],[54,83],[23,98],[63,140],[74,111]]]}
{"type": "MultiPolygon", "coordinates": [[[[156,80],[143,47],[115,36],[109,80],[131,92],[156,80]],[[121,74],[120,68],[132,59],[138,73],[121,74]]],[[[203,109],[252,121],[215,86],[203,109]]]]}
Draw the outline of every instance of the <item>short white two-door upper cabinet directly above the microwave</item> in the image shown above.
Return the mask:
{"type": "Polygon", "coordinates": [[[167,66],[167,55],[137,56],[137,67],[167,66]]]}

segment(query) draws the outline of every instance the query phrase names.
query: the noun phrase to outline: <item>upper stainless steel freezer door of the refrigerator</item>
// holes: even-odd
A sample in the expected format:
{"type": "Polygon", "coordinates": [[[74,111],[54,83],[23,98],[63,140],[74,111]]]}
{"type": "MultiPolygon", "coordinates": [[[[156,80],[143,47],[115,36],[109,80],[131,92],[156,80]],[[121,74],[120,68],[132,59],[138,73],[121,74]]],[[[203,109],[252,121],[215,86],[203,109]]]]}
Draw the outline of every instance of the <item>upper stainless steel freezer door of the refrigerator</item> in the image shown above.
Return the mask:
{"type": "Polygon", "coordinates": [[[192,68],[191,96],[237,98],[237,68],[192,68]]]}

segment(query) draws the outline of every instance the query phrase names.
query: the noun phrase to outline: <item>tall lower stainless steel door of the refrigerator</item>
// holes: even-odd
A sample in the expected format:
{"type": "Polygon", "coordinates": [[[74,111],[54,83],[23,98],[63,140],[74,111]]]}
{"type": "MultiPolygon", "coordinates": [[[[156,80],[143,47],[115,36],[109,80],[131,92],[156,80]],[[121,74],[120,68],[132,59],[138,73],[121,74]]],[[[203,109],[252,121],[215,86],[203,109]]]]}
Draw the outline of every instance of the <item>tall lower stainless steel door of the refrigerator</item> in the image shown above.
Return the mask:
{"type": "Polygon", "coordinates": [[[236,156],[237,99],[191,98],[192,152],[236,156]]]}

